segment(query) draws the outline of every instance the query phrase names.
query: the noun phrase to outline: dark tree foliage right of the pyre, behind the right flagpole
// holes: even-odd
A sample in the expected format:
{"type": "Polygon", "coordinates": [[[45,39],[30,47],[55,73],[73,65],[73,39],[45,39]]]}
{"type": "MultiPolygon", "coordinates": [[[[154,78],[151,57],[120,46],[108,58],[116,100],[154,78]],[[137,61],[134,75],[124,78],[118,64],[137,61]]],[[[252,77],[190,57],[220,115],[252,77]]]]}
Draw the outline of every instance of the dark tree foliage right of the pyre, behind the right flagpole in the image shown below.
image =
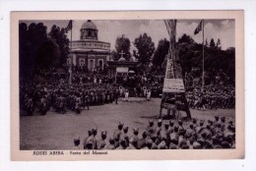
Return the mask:
{"type": "MultiPolygon", "coordinates": [[[[221,42],[221,40],[220,40],[221,42]]],[[[203,52],[202,44],[191,41],[177,43],[179,51],[180,64],[184,73],[190,73],[193,68],[198,68],[202,73],[203,52]]],[[[209,80],[214,79],[217,75],[223,74],[234,81],[235,77],[235,48],[230,47],[226,50],[217,48],[214,39],[211,39],[210,46],[205,49],[205,72],[209,80]]]]}

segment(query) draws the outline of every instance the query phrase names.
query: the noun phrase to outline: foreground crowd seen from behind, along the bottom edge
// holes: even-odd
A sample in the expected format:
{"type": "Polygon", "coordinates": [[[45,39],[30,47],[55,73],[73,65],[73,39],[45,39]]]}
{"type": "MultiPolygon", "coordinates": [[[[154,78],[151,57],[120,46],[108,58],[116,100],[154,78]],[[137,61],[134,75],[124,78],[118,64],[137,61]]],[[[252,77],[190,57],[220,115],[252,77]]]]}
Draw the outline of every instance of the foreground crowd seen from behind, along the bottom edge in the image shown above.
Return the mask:
{"type": "Polygon", "coordinates": [[[214,120],[192,119],[187,127],[181,120],[173,122],[149,121],[145,130],[124,126],[120,123],[113,133],[97,129],[88,131],[88,136],[74,138],[72,149],[210,149],[234,148],[235,125],[232,120],[215,116],[214,120]],[[99,138],[100,137],[100,138],[99,138]]]}

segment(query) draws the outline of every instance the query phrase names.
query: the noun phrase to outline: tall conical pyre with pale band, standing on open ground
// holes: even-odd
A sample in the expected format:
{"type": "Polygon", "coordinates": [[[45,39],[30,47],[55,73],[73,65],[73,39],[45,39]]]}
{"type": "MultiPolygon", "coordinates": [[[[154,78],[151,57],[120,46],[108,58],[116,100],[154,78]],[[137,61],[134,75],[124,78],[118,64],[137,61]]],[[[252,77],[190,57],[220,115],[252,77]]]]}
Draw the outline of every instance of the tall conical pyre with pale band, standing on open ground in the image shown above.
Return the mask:
{"type": "Polygon", "coordinates": [[[165,78],[160,104],[160,118],[162,108],[167,109],[167,117],[174,116],[180,119],[180,112],[186,112],[186,118],[191,119],[189,106],[186,100],[185,87],[182,79],[178,51],[176,49],[176,20],[164,20],[169,35],[169,50],[166,55],[165,78]],[[172,115],[170,115],[172,111],[172,115]]]}

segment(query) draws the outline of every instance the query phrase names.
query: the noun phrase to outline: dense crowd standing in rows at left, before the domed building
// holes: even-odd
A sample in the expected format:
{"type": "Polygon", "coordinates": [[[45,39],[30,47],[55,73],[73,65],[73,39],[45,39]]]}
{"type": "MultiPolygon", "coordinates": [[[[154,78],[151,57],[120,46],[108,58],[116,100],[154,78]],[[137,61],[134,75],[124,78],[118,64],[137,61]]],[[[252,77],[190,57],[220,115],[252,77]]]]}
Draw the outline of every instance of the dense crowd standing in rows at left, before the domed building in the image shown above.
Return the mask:
{"type": "Polygon", "coordinates": [[[120,88],[113,84],[24,84],[20,86],[20,105],[28,115],[37,109],[45,115],[50,108],[58,113],[67,109],[80,114],[89,106],[118,100],[120,88]]]}

